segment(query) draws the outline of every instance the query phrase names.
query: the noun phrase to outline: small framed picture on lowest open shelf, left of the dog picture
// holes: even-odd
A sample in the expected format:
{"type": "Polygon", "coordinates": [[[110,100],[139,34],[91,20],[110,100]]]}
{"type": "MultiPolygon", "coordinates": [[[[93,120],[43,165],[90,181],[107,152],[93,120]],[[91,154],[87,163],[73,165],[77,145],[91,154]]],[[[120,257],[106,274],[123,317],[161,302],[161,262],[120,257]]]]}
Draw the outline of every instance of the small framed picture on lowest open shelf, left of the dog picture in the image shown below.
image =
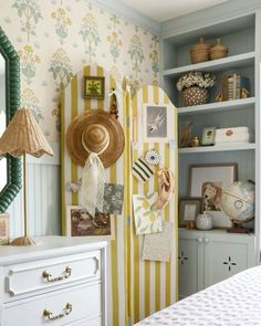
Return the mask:
{"type": "Polygon", "coordinates": [[[178,206],[178,225],[187,227],[188,221],[195,221],[201,212],[201,197],[187,197],[179,200],[178,206]]]}

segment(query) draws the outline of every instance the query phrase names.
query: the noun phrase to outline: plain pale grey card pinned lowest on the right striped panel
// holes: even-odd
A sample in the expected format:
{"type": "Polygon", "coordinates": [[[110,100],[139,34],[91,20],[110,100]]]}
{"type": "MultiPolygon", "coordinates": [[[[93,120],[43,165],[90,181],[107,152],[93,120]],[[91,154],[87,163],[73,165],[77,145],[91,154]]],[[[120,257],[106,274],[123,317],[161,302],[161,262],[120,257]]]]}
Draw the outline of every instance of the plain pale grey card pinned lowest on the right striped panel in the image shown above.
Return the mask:
{"type": "Polygon", "coordinates": [[[163,222],[163,232],[144,236],[143,260],[169,262],[171,252],[173,223],[163,222]]]}

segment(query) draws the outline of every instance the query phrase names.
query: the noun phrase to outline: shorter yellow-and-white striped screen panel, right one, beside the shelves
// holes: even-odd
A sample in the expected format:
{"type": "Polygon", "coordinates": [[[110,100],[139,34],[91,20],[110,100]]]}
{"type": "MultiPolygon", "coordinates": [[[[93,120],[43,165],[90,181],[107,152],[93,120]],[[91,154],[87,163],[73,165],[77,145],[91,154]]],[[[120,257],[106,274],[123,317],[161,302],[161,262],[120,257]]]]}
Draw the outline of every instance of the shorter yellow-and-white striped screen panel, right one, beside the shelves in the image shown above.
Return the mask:
{"type": "MultiPolygon", "coordinates": [[[[175,177],[175,193],[169,204],[163,211],[163,219],[174,227],[171,256],[167,263],[144,261],[140,259],[143,238],[134,230],[134,214],[132,212],[130,238],[130,313],[132,322],[164,308],[177,299],[177,108],[170,103],[166,93],[157,86],[143,86],[130,101],[130,126],[136,130],[135,143],[132,141],[132,161],[144,156],[148,149],[156,149],[160,157],[160,167],[170,168],[175,177]],[[144,143],[143,104],[166,105],[170,118],[169,143],[144,143]]],[[[130,136],[134,137],[133,133],[130,136]]],[[[130,139],[133,140],[133,139],[130,139]]],[[[152,177],[146,183],[139,183],[135,177],[132,180],[132,193],[148,193],[158,191],[157,177],[152,177]]],[[[132,200],[132,199],[130,199],[132,200]]],[[[132,206],[130,206],[132,207],[132,206]]]]}

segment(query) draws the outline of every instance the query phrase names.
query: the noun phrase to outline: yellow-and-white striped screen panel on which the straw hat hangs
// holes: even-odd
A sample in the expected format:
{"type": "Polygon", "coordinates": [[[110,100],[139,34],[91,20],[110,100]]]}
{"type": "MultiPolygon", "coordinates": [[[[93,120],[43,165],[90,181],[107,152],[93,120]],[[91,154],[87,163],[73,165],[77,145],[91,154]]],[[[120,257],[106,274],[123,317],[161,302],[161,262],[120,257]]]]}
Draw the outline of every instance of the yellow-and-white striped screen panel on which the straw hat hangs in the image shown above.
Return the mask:
{"type": "Polygon", "coordinates": [[[77,193],[66,191],[67,182],[72,182],[82,177],[82,167],[74,164],[71,159],[65,145],[66,130],[72,119],[88,109],[109,108],[108,93],[115,87],[117,92],[118,120],[125,132],[125,150],[115,165],[105,170],[106,181],[125,185],[125,202],[122,215],[114,217],[115,240],[108,241],[108,265],[107,265],[107,293],[108,293],[108,326],[122,326],[127,324],[128,318],[128,288],[127,288],[127,219],[128,209],[128,185],[126,168],[129,157],[129,139],[127,132],[127,108],[126,93],[122,86],[117,85],[109,73],[101,66],[84,66],[71,81],[69,86],[62,93],[62,220],[63,233],[65,231],[65,208],[79,203],[77,193]],[[103,99],[84,99],[82,95],[83,76],[104,76],[105,77],[105,98],[103,99]]]}

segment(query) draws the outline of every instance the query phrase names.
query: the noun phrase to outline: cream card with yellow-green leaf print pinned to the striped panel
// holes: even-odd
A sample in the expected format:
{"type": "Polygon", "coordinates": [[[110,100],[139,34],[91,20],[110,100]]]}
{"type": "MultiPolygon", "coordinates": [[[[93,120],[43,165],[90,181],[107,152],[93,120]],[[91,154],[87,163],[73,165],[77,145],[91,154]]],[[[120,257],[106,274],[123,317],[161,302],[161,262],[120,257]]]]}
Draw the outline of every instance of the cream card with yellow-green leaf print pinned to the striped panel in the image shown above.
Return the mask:
{"type": "Polygon", "coordinates": [[[156,209],[157,192],[133,194],[133,208],[136,234],[160,232],[161,212],[156,209]]]}

